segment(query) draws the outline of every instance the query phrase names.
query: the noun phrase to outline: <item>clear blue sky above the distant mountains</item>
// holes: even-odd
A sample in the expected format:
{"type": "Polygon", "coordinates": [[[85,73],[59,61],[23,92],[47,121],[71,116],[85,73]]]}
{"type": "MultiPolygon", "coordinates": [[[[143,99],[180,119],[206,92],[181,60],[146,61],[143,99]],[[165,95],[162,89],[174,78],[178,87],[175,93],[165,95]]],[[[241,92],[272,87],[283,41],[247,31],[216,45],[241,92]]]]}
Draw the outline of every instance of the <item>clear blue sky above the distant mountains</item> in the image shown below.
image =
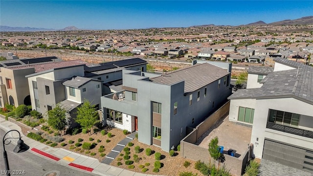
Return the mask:
{"type": "Polygon", "coordinates": [[[0,0],[0,25],[52,29],[240,25],[312,16],[312,7],[311,0],[0,0]]]}

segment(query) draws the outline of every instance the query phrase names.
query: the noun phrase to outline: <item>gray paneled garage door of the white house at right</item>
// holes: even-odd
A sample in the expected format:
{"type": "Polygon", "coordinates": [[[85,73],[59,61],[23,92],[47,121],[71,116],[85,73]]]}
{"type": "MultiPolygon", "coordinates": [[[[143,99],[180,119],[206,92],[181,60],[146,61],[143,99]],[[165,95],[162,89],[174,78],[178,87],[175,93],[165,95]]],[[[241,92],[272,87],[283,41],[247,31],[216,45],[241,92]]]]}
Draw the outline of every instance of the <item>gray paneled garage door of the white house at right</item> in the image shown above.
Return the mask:
{"type": "Polygon", "coordinates": [[[266,139],[262,158],[313,172],[313,151],[266,139]]]}

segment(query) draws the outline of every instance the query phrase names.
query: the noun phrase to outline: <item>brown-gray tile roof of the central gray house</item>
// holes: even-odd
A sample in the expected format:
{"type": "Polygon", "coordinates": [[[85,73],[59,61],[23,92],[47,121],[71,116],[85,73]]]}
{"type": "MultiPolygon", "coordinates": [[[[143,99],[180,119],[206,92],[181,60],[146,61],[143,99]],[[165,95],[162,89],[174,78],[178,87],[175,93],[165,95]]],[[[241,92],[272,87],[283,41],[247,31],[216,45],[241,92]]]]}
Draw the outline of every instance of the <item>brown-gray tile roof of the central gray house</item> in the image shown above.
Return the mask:
{"type": "Polygon", "coordinates": [[[228,74],[229,73],[224,68],[204,63],[179,69],[164,76],[151,78],[151,81],[164,85],[172,85],[185,81],[184,92],[189,93],[221,79],[228,74]]]}

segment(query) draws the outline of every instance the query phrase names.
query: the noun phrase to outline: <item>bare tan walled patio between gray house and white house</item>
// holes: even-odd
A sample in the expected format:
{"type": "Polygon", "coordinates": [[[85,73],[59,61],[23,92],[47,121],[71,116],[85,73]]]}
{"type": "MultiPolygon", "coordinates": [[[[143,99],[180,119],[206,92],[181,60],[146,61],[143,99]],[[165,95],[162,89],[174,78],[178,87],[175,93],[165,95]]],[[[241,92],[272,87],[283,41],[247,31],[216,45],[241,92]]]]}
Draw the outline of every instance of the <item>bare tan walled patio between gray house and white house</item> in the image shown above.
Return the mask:
{"type": "Polygon", "coordinates": [[[224,146],[224,154],[229,149],[236,150],[236,157],[244,154],[250,144],[252,126],[228,120],[228,115],[217,121],[209,130],[201,135],[196,145],[208,148],[215,136],[219,138],[219,146],[224,146]]]}

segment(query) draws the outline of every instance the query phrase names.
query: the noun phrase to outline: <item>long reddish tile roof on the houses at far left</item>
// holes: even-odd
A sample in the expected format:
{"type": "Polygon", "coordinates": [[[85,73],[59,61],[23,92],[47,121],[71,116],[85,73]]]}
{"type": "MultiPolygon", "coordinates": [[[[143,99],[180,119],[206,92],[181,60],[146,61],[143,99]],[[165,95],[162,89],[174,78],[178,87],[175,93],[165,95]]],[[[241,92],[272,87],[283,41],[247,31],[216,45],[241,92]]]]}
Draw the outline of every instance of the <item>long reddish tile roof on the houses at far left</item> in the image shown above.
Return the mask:
{"type": "Polygon", "coordinates": [[[86,64],[88,63],[78,59],[78,60],[63,61],[63,62],[56,62],[56,63],[10,67],[9,69],[16,70],[16,69],[25,69],[25,68],[35,68],[35,72],[38,73],[38,72],[42,72],[42,71],[54,69],[54,68],[62,68],[62,67],[67,67],[67,66],[79,66],[79,65],[86,65],[86,64]]]}

